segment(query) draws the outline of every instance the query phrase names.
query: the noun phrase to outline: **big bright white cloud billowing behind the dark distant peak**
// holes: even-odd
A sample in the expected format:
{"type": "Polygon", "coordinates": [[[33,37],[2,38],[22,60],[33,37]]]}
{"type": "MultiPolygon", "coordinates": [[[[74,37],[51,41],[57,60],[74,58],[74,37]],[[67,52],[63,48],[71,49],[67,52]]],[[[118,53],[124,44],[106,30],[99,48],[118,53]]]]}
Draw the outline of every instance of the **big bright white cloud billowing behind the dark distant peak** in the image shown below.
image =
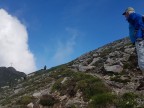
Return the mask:
{"type": "Polygon", "coordinates": [[[28,49],[26,27],[14,16],[0,9],[0,66],[10,66],[30,73],[36,70],[34,55],[28,49]]]}

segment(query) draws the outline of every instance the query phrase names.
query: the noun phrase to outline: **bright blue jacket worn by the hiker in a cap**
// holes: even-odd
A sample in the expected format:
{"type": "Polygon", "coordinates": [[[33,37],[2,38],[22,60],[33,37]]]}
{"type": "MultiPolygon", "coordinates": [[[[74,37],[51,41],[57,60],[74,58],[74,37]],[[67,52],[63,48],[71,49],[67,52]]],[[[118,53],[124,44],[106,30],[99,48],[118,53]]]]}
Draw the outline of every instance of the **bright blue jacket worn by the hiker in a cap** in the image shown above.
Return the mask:
{"type": "Polygon", "coordinates": [[[144,30],[144,22],[142,20],[142,15],[137,14],[137,13],[131,13],[129,17],[127,18],[127,21],[129,22],[130,26],[130,38],[132,42],[134,43],[137,38],[142,38],[143,37],[143,32],[144,30]],[[137,30],[136,34],[134,34],[134,31],[137,30]],[[133,32],[133,36],[132,36],[133,32]]]}

